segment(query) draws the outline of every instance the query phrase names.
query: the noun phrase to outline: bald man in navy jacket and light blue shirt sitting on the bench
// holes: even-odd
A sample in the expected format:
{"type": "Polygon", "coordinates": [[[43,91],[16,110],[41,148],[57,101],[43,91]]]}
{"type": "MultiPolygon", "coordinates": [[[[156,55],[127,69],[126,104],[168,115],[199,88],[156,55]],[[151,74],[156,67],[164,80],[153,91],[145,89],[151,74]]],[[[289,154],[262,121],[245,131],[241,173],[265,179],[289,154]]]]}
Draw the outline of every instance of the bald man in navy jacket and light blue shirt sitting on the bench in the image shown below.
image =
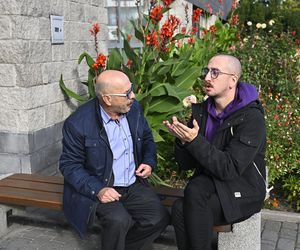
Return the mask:
{"type": "Polygon", "coordinates": [[[96,215],[102,250],[148,249],[169,223],[147,182],[157,161],[151,130],[124,73],[102,72],[95,92],[63,127],[65,216],[84,237],[96,215]]]}

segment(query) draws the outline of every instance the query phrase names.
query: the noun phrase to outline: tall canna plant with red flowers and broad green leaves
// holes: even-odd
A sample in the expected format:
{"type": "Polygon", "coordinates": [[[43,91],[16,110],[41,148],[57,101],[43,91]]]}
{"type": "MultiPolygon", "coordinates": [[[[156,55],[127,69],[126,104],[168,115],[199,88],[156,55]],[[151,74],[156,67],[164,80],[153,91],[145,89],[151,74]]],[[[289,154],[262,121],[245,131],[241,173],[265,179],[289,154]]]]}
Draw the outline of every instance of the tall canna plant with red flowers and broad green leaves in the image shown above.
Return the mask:
{"type": "MultiPolygon", "coordinates": [[[[171,9],[174,0],[151,0],[148,13],[140,13],[140,1],[136,0],[139,13],[138,22],[131,21],[134,36],[140,42],[140,48],[131,47],[132,34],[121,32],[123,50],[117,48],[110,51],[109,56],[98,52],[97,34],[100,30],[96,23],[90,30],[94,37],[96,60],[87,52],[83,52],[78,63],[85,61],[88,65],[87,86],[88,95],[81,96],[66,87],[63,76],[60,87],[64,93],[75,98],[80,103],[95,97],[94,79],[105,69],[122,70],[134,84],[136,99],[141,103],[144,114],[152,129],[155,142],[168,144],[172,151],[170,137],[162,121],[173,115],[186,116],[183,99],[196,94],[201,99],[201,82],[199,76],[202,67],[209,58],[229,50],[238,42],[236,22],[223,24],[220,20],[208,29],[199,27],[199,19],[203,16],[201,9],[193,11],[192,25],[186,5],[185,23],[176,16],[164,17],[171,9]],[[201,35],[201,38],[199,37],[201,35]],[[166,143],[165,143],[166,142],[166,143]]],[[[166,162],[163,155],[165,147],[158,147],[159,161],[166,162]]],[[[163,171],[161,171],[163,172],[163,171]]],[[[155,178],[157,176],[154,176],[155,178]]]]}

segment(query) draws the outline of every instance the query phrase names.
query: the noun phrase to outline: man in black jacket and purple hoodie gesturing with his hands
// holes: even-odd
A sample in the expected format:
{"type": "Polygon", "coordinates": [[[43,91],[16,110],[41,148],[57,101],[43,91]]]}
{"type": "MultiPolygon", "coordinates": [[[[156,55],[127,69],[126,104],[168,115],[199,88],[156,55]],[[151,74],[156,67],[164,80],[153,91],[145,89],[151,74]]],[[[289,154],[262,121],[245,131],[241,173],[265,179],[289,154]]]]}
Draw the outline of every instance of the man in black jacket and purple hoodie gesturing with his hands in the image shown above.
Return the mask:
{"type": "Polygon", "coordinates": [[[214,56],[203,69],[208,98],[192,105],[186,126],[164,121],[176,137],[181,169],[194,169],[184,198],[172,208],[177,245],[211,249],[213,226],[259,212],[266,193],[264,111],[255,86],[239,82],[239,60],[214,56]]]}

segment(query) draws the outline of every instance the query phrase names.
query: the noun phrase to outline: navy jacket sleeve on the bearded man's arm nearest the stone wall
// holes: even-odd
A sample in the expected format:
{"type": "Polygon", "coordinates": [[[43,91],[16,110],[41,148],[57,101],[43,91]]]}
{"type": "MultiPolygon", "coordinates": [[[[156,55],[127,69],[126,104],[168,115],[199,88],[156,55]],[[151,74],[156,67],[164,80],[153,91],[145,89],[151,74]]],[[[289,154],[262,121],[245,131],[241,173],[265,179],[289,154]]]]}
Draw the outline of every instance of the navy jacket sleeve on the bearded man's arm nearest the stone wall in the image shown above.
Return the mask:
{"type": "Polygon", "coordinates": [[[104,184],[84,168],[85,140],[68,119],[63,127],[62,144],[59,169],[65,181],[82,195],[97,200],[97,194],[104,184]]]}

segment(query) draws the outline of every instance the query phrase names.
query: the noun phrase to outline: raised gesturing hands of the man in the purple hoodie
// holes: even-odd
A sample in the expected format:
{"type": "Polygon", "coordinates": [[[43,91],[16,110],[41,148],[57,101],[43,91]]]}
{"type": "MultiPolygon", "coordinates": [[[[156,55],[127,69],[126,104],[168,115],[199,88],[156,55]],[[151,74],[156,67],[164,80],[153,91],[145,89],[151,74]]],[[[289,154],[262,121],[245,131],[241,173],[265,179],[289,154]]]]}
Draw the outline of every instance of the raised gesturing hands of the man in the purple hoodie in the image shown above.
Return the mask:
{"type": "Polygon", "coordinates": [[[168,128],[169,132],[176,136],[183,144],[194,140],[199,132],[199,126],[195,119],[193,120],[193,128],[189,128],[179,122],[176,116],[172,117],[172,123],[169,121],[163,121],[163,124],[168,128]]]}

